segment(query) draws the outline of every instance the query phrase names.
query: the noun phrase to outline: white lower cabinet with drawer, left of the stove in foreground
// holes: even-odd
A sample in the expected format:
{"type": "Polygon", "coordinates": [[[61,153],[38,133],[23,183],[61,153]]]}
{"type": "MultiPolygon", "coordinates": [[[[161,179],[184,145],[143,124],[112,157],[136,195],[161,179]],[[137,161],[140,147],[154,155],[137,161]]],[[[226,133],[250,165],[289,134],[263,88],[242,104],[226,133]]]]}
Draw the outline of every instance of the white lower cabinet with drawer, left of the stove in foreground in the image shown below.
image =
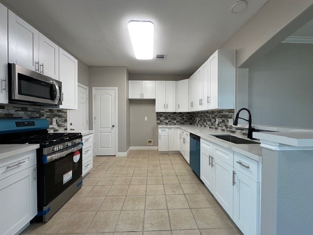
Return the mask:
{"type": "Polygon", "coordinates": [[[36,150],[0,160],[0,198],[0,234],[14,235],[37,214],[36,150]]]}

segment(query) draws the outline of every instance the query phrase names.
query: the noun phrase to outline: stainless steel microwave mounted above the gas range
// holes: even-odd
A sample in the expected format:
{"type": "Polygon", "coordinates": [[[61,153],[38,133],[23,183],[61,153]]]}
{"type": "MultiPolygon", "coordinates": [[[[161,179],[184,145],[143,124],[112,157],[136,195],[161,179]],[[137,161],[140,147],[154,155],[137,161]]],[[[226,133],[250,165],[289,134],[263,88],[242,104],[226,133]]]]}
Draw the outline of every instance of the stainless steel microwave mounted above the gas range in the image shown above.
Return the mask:
{"type": "Polygon", "coordinates": [[[35,105],[62,104],[62,82],[16,64],[8,64],[9,102],[35,105]]]}

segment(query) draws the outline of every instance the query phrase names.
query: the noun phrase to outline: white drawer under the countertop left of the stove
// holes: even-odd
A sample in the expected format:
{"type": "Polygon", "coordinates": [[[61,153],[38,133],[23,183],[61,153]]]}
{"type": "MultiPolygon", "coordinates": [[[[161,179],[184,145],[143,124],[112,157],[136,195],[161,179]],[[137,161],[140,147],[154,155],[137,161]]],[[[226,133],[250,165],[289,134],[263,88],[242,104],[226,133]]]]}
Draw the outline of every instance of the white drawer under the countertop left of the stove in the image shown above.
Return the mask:
{"type": "Polygon", "coordinates": [[[28,151],[0,160],[0,180],[36,165],[36,150],[28,151]]]}

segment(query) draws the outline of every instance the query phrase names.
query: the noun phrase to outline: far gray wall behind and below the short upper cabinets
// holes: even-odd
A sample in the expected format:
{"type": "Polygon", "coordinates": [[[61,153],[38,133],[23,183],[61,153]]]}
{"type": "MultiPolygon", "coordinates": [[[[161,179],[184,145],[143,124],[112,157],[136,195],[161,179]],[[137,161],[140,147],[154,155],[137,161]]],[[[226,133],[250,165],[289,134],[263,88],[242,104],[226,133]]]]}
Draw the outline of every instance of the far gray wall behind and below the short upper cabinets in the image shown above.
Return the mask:
{"type": "MultiPolygon", "coordinates": [[[[189,75],[130,74],[130,80],[179,81],[186,78],[189,75]]],[[[151,146],[147,145],[148,139],[157,146],[156,100],[131,100],[130,111],[131,146],[151,146]],[[148,117],[147,121],[145,117],[148,117]]]]}

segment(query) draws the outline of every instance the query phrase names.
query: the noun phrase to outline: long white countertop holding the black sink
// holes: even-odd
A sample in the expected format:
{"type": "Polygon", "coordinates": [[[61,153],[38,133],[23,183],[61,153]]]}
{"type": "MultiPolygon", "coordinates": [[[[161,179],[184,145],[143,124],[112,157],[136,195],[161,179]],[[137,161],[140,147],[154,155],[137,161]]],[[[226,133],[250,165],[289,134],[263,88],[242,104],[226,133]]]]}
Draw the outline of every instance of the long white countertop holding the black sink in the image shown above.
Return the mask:
{"type": "Polygon", "coordinates": [[[219,144],[225,148],[233,150],[234,152],[240,153],[242,155],[247,156],[248,158],[251,158],[255,161],[262,163],[262,147],[260,147],[260,144],[236,144],[229,141],[218,139],[215,136],[211,136],[211,135],[232,135],[242,139],[249,140],[243,135],[238,135],[234,133],[214,130],[208,127],[201,127],[195,125],[158,125],[158,127],[159,128],[178,127],[184,131],[191,132],[197,136],[200,136],[204,140],[219,144]]]}

